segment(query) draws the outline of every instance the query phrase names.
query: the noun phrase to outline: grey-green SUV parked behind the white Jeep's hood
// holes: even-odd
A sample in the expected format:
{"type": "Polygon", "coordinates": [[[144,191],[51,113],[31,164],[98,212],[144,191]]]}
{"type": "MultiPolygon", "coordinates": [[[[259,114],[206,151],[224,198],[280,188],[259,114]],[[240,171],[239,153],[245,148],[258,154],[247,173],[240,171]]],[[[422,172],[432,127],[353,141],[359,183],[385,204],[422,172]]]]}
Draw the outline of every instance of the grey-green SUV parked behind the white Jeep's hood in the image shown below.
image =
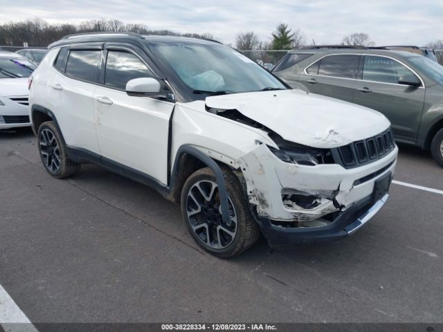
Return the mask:
{"type": "Polygon", "coordinates": [[[295,89],[383,113],[397,142],[431,149],[443,167],[443,66],[431,59],[405,51],[317,46],[291,50],[273,74],[295,89]]]}

